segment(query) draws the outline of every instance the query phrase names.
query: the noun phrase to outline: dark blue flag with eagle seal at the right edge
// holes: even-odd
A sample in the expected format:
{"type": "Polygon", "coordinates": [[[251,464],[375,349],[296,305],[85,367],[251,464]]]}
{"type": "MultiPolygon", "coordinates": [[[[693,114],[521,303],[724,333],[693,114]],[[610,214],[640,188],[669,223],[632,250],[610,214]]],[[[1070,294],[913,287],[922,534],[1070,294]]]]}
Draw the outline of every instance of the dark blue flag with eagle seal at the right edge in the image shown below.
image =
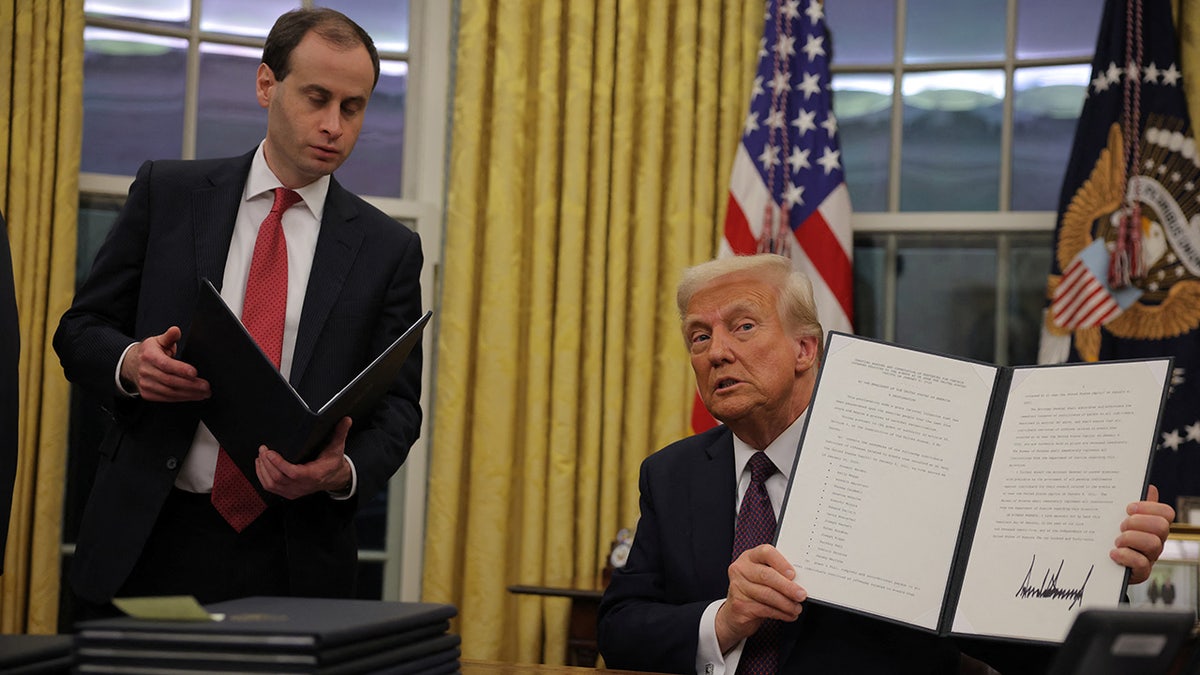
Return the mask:
{"type": "Polygon", "coordinates": [[[1182,78],[1170,0],[1108,0],[1039,350],[1043,363],[1175,357],[1151,470],[1171,504],[1200,495],[1200,156],[1182,78]]]}

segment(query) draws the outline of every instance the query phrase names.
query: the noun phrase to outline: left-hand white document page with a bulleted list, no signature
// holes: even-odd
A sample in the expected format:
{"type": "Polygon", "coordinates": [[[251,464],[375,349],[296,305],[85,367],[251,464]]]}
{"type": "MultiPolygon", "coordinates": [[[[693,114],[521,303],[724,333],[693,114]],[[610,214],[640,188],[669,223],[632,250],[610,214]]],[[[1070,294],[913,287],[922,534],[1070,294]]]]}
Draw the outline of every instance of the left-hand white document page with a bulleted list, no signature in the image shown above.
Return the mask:
{"type": "Polygon", "coordinates": [[[830,338],[776,543],[809,597],[937,627],[996,371],[830,338]]]}

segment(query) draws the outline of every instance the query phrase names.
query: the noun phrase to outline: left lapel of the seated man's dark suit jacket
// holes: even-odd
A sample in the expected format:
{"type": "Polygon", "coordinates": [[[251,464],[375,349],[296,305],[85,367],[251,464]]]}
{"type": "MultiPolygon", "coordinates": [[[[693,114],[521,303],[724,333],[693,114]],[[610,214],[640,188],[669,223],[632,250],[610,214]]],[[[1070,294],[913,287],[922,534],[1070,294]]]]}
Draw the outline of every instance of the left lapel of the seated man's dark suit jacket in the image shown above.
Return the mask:
{"type": "Polygon", "coordinates": [[[692,551],[697,575],[706,587],[722,595],[728,589],[733,551],[733,516],[738,486],[733,476],[733,435],[726,428],[703,449],[704,460],[692,474],[689,501],[692,551]],[[718,536],[713,536],[713,533],[718,536]]]}

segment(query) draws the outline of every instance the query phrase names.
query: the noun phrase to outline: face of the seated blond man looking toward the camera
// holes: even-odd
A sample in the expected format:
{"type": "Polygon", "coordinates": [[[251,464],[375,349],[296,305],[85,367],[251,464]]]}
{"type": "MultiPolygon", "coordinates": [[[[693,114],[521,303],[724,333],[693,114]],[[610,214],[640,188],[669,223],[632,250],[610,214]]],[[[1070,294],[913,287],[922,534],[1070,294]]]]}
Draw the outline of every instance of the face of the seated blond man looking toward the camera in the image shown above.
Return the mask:
{"type": "Polygon", "coordinates": [[[774,440],[808,406],[816,338],[786,330],[773,286],[740,273],[715,280],[688,304],[684,335],[701,400],[743,440],[774,440]]]}

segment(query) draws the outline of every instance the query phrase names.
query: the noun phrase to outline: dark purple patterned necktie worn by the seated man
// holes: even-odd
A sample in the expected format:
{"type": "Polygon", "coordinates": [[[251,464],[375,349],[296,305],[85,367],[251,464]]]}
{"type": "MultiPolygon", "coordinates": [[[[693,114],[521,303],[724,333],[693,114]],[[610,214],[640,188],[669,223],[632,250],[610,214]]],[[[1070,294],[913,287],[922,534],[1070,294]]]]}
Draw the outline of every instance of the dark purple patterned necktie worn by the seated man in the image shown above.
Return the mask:
{"type": "MultiPolygon", "coordinates": [[[[769,544],[775,537],[775,509],[770,506],[767,494],[767,478],[779,471],[767,456],[756,452],[750,455],[750,486],[742,497],[738,509],[738,524],[733,528],[733,557],[737,560],[743,551],[760,544],[769,544]]],[[[767,620],[758,632],[746,639],[738,661],[737,675],[768,675],[778,670],[779,634],[782,625],[767,620]]]]}

